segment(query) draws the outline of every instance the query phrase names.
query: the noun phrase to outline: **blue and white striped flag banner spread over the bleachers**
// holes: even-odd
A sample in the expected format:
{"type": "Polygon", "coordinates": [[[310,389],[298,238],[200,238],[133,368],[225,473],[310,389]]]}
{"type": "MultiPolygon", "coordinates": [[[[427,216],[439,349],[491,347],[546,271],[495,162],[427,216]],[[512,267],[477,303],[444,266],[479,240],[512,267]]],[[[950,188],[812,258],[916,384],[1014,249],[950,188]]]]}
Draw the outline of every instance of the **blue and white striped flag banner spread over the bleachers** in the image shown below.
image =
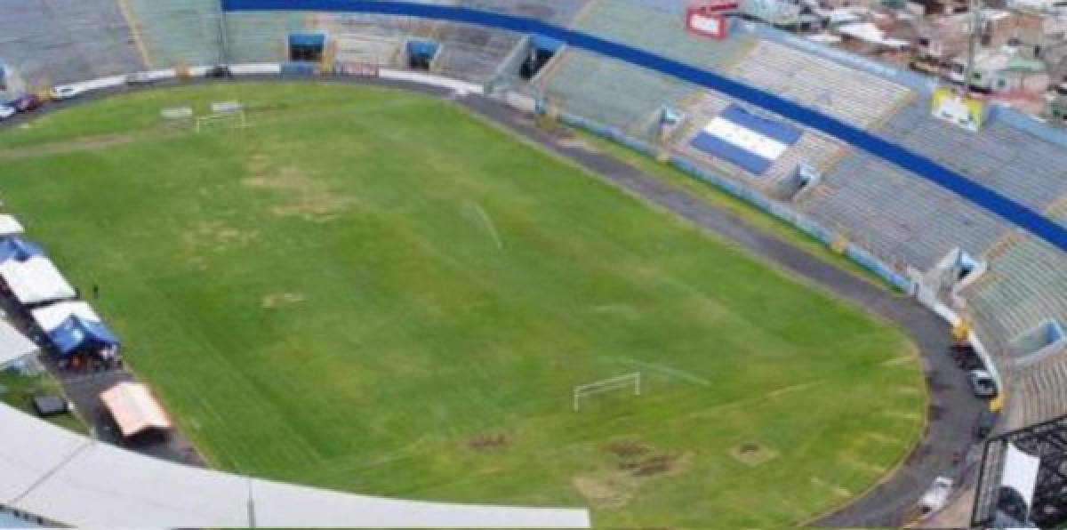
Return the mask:
{"type": "Polygon", "coordinates": [[[753,175],[763,175],[800,140],[800,134],[787,124],[757,116],[732,105],[715,116],[689,145],[753,175]]]}

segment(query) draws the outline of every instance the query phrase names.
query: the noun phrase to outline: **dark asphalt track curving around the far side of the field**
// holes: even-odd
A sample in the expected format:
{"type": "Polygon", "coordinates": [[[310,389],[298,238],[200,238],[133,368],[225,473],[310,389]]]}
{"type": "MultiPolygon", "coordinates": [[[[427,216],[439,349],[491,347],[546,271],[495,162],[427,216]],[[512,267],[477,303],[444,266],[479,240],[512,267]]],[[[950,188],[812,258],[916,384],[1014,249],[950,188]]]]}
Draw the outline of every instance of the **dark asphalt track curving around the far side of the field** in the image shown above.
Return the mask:
{"type": "MultiPolygon", "coordinates": [[[[244,79],[306,82],[299,79],[277,81],[277,77],[241,78],[226,82],[242,82],[244,79]]],[[[812,526],[899,527],[907,523],[908,515],[913,514],[915,502],[936,477],[959,479],[962,475],[965,469],[961,456],[972,445],[971,429],[983,409],[983,403],[971,396],[962,371],[946,354],[951,343],[947,324],[914,300],[901,296],[888,288],[846,272],[609,155],[568,141],[571,139],[566,135],[547,132],[537,127],[534,116],[517,112],[498,100],[478,95],[459,97],[449,90],[403,81],[366,78],[334,80],[317,78],[316,81],[387,86],[453,100],[482,118],[585,167],[591,175],[619,190],[655,208],[669,211],[713,236],[732,242],[746,252],[778,266],[816,288],[863,307],[904,330],[921,353],[920,359],[929,396],[926,431],[912,452],[889,477],[849,504],[810,521],[812,526]]],[[[191,80],[159,83],[155,86],[211,82],[219,81],[191,80]]],[[[16,119],[0,124],[0,131],[6,127],[17,127],[41,113],[141,90],[152,90],[152,87],[100,91],[86,94],[77,100],[54,102],[34,115],[18,116],[16,119]]],[[[68,390],[84,394],[76,388],[68,390]]],[[[872,391],[879,389],[872,388],[872,391]]],[[[959,521],[959,524],[966,523],[959,521]]],[[[714,521],[708,524],[714,526],[714,521]]]]}

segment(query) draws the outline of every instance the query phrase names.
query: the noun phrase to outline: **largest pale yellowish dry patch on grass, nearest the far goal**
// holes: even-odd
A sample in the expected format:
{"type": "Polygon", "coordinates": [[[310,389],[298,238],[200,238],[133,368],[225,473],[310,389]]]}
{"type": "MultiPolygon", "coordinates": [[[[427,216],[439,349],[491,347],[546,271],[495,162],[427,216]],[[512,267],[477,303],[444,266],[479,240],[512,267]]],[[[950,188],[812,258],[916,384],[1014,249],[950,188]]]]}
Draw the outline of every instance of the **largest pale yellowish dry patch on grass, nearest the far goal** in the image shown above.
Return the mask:
{"type": "Polygon", "coordinates": [[[330,188],[309,171],[284,165],[274,167],[264,155],[249,159],[249,177],[241,183],[252,190],[277,192],[281,200],[270,212],[282,218],[301,218],[324,223],[348,211],[357,200],[330,188]]]}

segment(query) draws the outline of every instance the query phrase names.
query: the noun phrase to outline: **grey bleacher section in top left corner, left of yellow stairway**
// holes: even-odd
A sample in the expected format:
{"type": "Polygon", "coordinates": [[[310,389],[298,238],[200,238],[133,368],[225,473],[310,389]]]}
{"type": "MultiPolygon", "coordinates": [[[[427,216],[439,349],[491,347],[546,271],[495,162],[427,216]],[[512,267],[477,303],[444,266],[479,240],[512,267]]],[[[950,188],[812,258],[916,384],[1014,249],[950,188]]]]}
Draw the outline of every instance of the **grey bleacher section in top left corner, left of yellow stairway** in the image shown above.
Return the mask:
{"type": "Polygon", "coordinates": [[[115,0],[0,2],[0,64],[16,91],[141,69],[132,43],[115,0]]]}

